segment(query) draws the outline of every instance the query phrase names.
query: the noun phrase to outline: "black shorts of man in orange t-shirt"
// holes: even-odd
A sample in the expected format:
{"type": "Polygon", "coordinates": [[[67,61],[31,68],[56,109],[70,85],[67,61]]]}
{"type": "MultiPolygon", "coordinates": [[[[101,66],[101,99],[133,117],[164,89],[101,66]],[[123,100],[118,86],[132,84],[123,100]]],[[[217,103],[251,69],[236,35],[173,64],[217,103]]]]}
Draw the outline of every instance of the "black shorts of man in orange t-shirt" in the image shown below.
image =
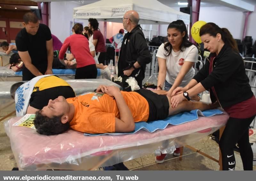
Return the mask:
{"type": "Polygon", "coordinates": [[[167,96],[158,95],[150,90],[140,89],[134,91],[143,96],[149,105],[148,121],[165,119],[169,115],[169,101],[167,96]]]}

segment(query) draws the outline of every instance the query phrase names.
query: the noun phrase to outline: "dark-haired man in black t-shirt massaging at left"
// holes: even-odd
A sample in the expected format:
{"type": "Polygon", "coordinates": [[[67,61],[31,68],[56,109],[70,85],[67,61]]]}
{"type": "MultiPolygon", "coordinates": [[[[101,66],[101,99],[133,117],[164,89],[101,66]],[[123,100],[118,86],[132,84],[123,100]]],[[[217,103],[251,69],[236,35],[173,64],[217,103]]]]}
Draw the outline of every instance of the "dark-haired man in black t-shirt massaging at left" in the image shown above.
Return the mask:
{"type": "Polygon", "coordinates": [[[28,12],[23,16],[23,28],[15,42],[24,65],[22,80],[52,74],[53,46],[51,30],[39,24],[36,14],[28,12]]]}

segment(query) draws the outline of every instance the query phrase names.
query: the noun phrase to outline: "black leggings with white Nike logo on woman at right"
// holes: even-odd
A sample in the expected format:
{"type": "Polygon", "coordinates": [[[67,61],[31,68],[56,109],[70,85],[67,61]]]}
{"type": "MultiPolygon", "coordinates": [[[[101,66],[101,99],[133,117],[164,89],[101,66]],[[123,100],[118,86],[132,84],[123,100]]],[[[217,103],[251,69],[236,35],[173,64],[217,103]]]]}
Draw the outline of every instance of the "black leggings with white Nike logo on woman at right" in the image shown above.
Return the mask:
{"type": "Polygon", "coordinates": [[[249,126],[255,115],[251,118],[229,118],[224,132],[220,138],[220,151],[223,170],[234,170],[236,159],[233,148],[238,143],[244,170],[252,170],[253,153],[249,143],[249,126]]]}

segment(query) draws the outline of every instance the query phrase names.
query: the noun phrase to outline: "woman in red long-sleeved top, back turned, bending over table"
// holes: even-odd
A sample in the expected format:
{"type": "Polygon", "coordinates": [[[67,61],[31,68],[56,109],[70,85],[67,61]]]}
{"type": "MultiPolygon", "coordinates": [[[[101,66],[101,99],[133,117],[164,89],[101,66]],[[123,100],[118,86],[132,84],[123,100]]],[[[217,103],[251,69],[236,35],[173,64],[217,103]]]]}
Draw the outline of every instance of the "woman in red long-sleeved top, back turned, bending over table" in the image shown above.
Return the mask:
{"type": "Polygon", "coordinates": [[[73,35],[66,38],[59,54],[60,61],[64,61],[64,54],[68,47],[76,58],[75,79],[88,79],[97,77],[95,61],[90,53],[89,41],[82,35],[83,25],[77,23],[72,28],[73,35]]]}

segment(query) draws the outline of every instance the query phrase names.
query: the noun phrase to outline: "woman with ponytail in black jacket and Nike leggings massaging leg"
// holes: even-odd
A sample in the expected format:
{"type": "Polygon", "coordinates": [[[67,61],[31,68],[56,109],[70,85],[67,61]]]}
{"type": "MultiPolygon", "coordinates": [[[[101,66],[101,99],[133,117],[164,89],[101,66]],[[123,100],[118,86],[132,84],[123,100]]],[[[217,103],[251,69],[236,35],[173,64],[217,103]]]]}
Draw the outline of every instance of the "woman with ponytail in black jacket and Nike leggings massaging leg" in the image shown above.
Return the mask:
{"type": "Polygon", "coordinates": [[[256,99],[249,79],[245,74],[244,62],[238,53],[236,41],[226,28],[207,23],[200,29],[204,48],[211,54],[204,67],[184,88],[172,93],[172,107],[185,99],[205,90],[210,91],[212,103],[218,101],[228,112],[225,130],[220,138],[223,170],[235,169],[233,148],[238,143],[244,170],[252,170],[253,153],[249,143],[249,126],[256,114],[256,99]]]}

